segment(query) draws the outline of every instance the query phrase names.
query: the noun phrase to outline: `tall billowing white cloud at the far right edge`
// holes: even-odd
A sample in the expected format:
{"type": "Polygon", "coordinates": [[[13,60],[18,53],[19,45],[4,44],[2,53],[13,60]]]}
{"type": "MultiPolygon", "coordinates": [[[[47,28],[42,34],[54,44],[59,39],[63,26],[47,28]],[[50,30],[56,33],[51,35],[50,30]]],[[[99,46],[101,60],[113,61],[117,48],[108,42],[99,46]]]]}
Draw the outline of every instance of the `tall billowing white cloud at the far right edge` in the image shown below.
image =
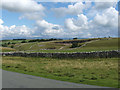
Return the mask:
{"type": "Polygon", "coordinates": [[[118,36],[118,11],[110,7],[97,14],[89,23],[89,32],[95,37],[118,36]]]}

